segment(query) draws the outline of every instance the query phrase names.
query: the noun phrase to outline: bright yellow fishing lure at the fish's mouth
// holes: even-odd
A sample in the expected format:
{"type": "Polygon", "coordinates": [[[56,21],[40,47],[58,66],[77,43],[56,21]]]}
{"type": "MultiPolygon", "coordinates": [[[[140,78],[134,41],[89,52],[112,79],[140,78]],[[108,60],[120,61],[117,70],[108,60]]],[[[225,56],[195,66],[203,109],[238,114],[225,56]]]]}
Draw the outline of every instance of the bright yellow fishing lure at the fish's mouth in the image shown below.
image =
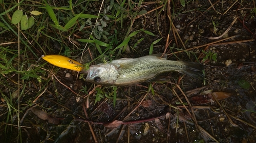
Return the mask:
{"type": "Polygon", "coordinates": [[[80,72],[83,69],[81,63],[78,63],[62,55],[42,55],[42,59],[60,68],[66,68],[78,72],[80,72]]]}

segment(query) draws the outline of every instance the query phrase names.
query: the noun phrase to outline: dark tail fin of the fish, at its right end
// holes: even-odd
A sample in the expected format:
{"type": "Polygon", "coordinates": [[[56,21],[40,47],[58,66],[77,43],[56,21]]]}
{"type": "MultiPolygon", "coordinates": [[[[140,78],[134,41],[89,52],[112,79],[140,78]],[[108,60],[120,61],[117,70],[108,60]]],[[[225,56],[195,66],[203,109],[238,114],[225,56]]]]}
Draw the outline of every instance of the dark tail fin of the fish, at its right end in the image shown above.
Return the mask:
{"type": "Polygon", "coordinates": [[[180,73],[183,73],[194,78],[204,79],[204,74],[202,72],[202,70],[204,70],[205,68],[204,65],[195,62],[183,62],[185,64],[185,69],[183,71],[180,71],[180,73]]]}

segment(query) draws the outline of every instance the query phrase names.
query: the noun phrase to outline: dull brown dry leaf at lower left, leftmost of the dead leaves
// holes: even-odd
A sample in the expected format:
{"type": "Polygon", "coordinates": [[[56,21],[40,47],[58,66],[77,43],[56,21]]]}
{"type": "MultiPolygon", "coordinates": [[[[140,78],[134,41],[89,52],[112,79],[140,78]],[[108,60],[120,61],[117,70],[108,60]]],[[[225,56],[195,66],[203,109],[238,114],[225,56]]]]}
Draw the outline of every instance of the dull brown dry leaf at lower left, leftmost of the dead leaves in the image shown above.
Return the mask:
{"type": "Polygon", "coordinates": [[[39,110],[39,109],[35,109],[35,108],[32,108],[31,111],[40,119],[42,120],[45,120],[45,121],[48,121],[49,123],[52,123],[52,124],[59,124],[59,120],[50,115],[49,113],[45,112],[45,111],[42,111],[42,110],[39,110]]]}

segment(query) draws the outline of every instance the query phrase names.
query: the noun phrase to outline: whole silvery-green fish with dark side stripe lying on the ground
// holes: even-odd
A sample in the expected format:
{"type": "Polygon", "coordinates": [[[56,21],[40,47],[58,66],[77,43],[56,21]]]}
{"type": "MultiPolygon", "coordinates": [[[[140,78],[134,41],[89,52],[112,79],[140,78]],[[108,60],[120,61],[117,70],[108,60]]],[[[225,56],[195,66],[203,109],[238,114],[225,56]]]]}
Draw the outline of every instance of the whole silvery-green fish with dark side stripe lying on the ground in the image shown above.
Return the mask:
{"type": "Polygon", "coordinates": [[[92,65],[87,71],[87,82],[101,85],[134,85],[151,81],[165,72],[180,72],[185,75],[204,79],[200,63],[167,60],[163,53],[141,56],[140,58],[122,58],[92,65]]]}

